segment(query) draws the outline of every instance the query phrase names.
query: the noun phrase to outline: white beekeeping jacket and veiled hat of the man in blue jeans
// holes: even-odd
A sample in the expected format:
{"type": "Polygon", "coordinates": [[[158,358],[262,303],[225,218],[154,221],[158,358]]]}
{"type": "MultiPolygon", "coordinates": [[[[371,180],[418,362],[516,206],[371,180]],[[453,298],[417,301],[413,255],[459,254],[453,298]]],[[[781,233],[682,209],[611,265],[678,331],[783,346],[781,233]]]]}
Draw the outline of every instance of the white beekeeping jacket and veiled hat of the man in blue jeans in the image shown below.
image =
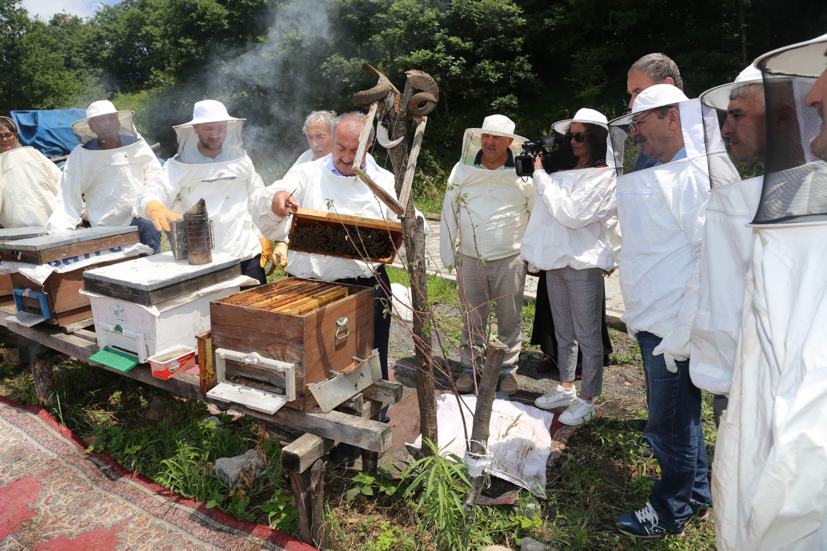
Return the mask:
{"type": "Polygon", "coordinates": [[[674,365],[674,359],[689,357],[698,298],[697,263],[710,192],[700,102],[670,84],[657,84],[638,95],[632,114],[609,122],[609,138],[620,172],[617,199],[624,241],[619,282],[626,307],[622,319],[630,336],[648,331],[662,337],[667,365],[671,359],[674,365]],[[650,110],[668,105],[679,109],[683,148],[666,162],[630,172],[638,146],[629,138],[629,123],[645,121],[639,115],[643,112],[658,116],[650,110]],[[629,171],[623,169],[626,165],[629,171]]]}

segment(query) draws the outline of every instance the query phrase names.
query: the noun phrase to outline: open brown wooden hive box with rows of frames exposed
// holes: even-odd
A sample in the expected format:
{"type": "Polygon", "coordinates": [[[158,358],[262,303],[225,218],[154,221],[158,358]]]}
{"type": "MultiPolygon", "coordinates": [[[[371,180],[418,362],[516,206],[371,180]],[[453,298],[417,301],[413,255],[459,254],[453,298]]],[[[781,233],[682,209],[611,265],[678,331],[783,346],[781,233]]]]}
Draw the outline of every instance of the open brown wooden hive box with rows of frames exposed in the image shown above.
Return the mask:
{"type": "MultiPolygon", "coordinates": [[[[308,410],[316,405],[308,384],[370,355],[374,296],[371,287],[284,278],[218,299],[210,303],[213,350],[257,352],[294,363],[296,400],[287,406],[308,410]]],[[[226,378],[237,377],[284,388],[281,373],[227,360],[226,378]]]]}

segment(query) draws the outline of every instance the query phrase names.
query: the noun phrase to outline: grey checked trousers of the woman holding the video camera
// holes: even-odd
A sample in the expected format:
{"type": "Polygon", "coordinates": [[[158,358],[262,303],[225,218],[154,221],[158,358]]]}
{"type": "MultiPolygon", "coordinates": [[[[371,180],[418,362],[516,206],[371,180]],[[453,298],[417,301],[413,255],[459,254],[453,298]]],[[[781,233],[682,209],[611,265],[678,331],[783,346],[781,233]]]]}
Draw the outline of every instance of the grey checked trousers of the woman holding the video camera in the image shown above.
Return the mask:
{"type": "Polygon", "coordinates": [[[552,306],[560,380],[574,381],[577,348],[583,356],[580,393],[586,397],[603,392],[603,270],[570,266],[546,272],[548,302],[552,306]]]}

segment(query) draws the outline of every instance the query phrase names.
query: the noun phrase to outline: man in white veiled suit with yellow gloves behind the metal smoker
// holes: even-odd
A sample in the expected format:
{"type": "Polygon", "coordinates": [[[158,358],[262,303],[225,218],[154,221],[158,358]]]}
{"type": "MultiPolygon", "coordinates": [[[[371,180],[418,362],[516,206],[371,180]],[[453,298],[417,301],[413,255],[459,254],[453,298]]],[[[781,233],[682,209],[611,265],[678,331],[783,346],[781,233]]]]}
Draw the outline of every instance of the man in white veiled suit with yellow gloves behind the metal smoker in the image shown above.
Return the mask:
{"type": "Polygon", "coordinates": [[[197,102],[193,120],[174,126],[178,154],[141,190],[136,215],[169,230],[170,221],[181,218],[168,208],[179,193],[184,211],[203,198],[213,222],[214,248],[241,259],[241,273],[263,284],[273,244],[261,236],[250,214],[264,183],[241,149],[244,121],[230,116],[222,102],[197,102]]]}

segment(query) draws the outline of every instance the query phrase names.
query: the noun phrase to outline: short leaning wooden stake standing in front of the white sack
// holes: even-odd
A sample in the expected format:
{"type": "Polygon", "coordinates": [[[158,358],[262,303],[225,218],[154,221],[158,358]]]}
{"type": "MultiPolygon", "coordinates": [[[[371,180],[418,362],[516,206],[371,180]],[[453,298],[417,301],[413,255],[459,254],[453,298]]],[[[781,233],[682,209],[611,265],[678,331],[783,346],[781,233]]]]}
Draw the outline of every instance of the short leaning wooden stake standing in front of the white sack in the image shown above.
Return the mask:
{"type": "MultiPolygon", "coordinates": [[[[506,350],[508,347],[499,340],[490,341],[485,350],[485,366],[482,368],[479,392],[476,395],[474,428],[471,430],[471,440],[467,443],[468,451],[476,454],[477,457],[484,455],[488,449],[491,409],[494,407],[497,380],[500,378],[500,368],[503,366],[506,350]]],[[[476,503],[483,480],[485,480],[484,474],[471,478],[471,492],[468,493],[465,502],[466,511],[471,511],[471,507],[476,503]]]]}

